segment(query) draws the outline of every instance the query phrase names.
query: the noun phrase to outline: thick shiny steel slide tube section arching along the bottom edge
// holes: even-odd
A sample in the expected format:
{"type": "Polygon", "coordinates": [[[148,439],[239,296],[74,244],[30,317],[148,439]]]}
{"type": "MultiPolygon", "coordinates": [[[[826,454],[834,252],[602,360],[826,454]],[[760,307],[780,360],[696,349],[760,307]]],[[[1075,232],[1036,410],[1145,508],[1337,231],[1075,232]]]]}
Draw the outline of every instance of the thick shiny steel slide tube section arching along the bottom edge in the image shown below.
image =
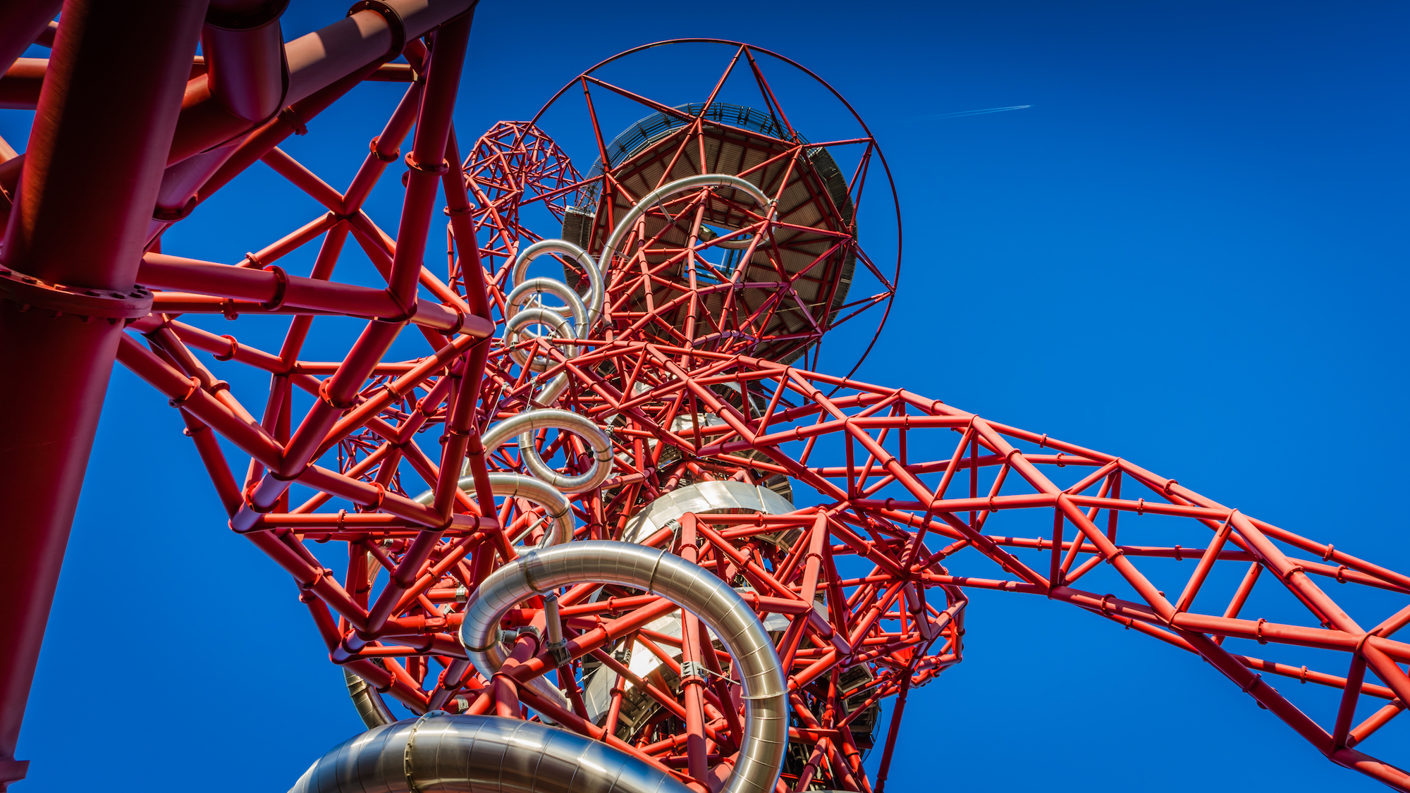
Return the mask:
{"type": "Polygon", "coordinates": [[[544,724],[430,711],[323,755],[289,793],[688,793],[670,775],[544,724]]]}

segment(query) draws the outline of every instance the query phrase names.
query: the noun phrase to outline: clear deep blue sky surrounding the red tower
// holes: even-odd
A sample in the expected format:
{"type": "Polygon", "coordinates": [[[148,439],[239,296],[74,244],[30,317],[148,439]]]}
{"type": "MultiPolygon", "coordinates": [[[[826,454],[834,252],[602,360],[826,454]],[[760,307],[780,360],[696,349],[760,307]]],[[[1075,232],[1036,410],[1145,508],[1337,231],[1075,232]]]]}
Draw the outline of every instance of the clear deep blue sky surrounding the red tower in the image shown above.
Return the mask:
{"type": "MultiPolygon", "coordinates": [[[[295,0],[285,31],[344,6],[295,0]]],[[[485,0],[457,128],[525,119],[582,68],[653,40],[790,55],[857,106],[901,195],[901,295],[859,378],[1120,453],[1410,570],[1393,507],[1410,474],[1396,452],[1407,17],[1402,3],[485,0]],[[918,119],[1012,104],[1032,107],[918,119]]],[[[341,183],[389,97],[369,87],[290,151],[341,183]]],[[[17,148],[25,116],[0,114],[17,148]]],[[[312,216],[262,167],[220,200],[168,250],[235,261],[312,216]]],[[[846,371],[845,347],[822,368],[846,371]]],[[[175,412],[118,368],[17,790],[285,790],[360,728],[293,584],[224,522],[175,412]]],[[[1407,735],[1399,724],[1368,749],[1406,765],[1393,749],[1407,735]]],[[[888,785],[942,786],[1380,789],[1194,658],[984,593],[966,662],[912,694],[888,785]]]]}

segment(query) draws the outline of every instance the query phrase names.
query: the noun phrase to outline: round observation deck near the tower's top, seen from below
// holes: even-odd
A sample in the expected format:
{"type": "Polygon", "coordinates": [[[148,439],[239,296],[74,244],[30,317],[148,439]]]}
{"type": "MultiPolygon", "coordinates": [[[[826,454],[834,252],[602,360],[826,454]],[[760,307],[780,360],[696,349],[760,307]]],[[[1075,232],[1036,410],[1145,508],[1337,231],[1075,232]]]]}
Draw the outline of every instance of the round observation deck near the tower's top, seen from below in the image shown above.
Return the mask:
{"type": "Polygon", "coordinates": [[[619,329],[654,313],[647,333],[663,341],[788,363],[832,326],[852,284],[857,229],[847,179],[826,148],[809,145],[767,113],[721,102],[653,113],[603,148],[606,159],[599,155],[587,172],[601,179],[568,209],[563,226],[565,240],[594,255],[615,219],[685,176],[740,176],[776,202],[767,223],[764,207],[728,186],[701,202],[699,220],[691,206],[671,200],[651,207],[644,234],[603,262],[619,329]],[[767,226],[752,254],[753,234],[730,237],[750,226],[767,226]],[[682,339],[692,308],[680,299],[687,291],[698,293],[695,310],[711,319],[682,339]]]}

